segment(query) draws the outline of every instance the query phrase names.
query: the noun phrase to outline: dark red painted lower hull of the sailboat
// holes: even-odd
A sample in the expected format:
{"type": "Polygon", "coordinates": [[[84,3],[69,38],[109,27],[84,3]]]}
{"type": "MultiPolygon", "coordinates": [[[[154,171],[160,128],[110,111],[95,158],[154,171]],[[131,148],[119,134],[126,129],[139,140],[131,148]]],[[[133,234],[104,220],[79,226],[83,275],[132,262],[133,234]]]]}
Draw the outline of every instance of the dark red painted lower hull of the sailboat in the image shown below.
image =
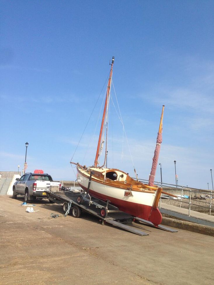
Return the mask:
{"type": "MultiPolygon", "coordinates": [[[[82,185],[80,186],[87,191],[85,187],[83,187],[82,185]]],[[[91,189],[89,189],[89,194],[103,201],[109,200],[111,204],[118,207],[119,210],[128,213],[134,217],[150,221],[154,224],[154,226],[158,226],[159,224],[161,224],[162,215],[158,208],[153,208],[152,206],[116,199],[110,196],[100,194],[91,189]]]]}

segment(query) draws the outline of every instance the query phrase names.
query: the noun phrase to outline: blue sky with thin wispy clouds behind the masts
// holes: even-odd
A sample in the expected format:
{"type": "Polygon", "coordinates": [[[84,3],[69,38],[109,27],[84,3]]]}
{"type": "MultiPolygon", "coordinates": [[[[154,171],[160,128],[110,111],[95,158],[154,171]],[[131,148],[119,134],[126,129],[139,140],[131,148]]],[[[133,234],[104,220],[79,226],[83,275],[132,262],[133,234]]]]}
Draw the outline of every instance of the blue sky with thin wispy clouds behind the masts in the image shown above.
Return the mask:
{"type": "MultiPolygon", "coordinates": [[[[69,161],[114,56],[113,84],[138,176],[149,177],[164,104],[163,182],[175,183],[176,160],[179,185],[212,187],[213,1],[22,0],[0,6],[0,170],[22,169],[27,141],[27,171],[75,179],[69,161]]],[[[105,88],[73,156],[88,166],[105,88]]],[[[133,176],[114,108],[110,117],[108,167],[133,176]]]]}

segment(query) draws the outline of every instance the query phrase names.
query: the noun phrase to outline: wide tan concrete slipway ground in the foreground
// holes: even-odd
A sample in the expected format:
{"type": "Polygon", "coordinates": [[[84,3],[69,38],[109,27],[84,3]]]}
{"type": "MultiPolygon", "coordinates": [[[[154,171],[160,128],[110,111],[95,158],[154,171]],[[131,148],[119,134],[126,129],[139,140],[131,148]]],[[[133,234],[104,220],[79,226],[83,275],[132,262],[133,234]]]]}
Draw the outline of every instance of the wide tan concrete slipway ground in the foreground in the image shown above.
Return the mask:
{"type": "Polygon", "coordinates": [[[139,236],[60,205],[0,196],[0,284],[213,284],[213,237],[136,224],[139,236]]]}

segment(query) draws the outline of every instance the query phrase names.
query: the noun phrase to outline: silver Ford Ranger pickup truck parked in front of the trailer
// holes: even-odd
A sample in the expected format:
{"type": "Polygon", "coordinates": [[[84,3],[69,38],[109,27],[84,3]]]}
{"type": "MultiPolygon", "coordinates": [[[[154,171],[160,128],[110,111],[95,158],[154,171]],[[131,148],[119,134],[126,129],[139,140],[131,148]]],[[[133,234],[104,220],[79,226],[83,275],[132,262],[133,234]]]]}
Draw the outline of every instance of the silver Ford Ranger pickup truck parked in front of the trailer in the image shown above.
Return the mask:
{"type": "Polygon", "coordinates": [[[55,186],[60,191],[62,184],[59,181],[53,181],[51,175],[47,173],[25,173],[20,178],[16,178],[13,184],[13,199],[17,195],[25,196],[25,202],[34,199],[47,198],[46,190],[50,190],[50,186],[55,186]]]}

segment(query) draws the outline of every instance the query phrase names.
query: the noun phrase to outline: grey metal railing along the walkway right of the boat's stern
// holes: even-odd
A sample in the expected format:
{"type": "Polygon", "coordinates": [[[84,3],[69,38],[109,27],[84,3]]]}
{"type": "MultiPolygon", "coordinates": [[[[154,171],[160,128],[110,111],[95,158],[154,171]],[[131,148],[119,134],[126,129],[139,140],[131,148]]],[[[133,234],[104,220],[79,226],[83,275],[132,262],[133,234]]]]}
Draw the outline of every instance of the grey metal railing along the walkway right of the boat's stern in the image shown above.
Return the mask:
{"type": "MultiPolygon", "coordinates": [[[[145,179],[139,179],[141,182],[143,183],[148,183],[149,180],[145,180],[145,179]]],[[[187,206],[187,209],[189,210],[188,215],[190,216],[190,212],[191,212],[191,206],[196,207],[198,210],[197,212],[200,212],[200,208],[205,208],[207,209],[207,212],[209,212],[209,215],[211,215],[211,210],[213,211],[214,214],[214,204],[212,204],[213,202],[213,198],[214,198],[214,191],[212,190],[201,190],[201,189],[197,189],[197,188],[192,188],[192,187],[184,187],[181,185],[175,185],[175,184],[168,184],[168,183],[161,183],[161,182],[154,182],[155,185],[159,186],[159,187],[164,187],[165,189],[168,190],[168,192],[170,193],[170,189],[176,192],[180,192],[180,194],[173,194],[175,196],[179,196],[179,200],[177,199],[172,199],[169,198],[170,200],[175,200],[178,202],[179,207],[182,207],[182,203],[183,204],[187,204],[189,206],[187,206]],[[188,195],[184,195],[188,193],[188,195]],[[185,196],[188,196],[188,198],[186,198],[185,196]],[[206,201],[206,198],[209,198],[209,202],[206,201]],[[200,204],[204,204],[204,205],[198,205],[194,202],[192,202],[192,200],[200,200],[200,204]],[[205,205],[205,204],[209,204],[205,205]],[[212,207],[213,206],[213,207],[212,207]]],[[[171,193],[172,194],[172,193],[171,193]]],[[[161,200],[162,200],[163,196],[161,195],[160,200],[159,200],[159,207],[161,208],[161,200]]],[[[192,209],[193,210],[193,209],[192,209]]]]}

